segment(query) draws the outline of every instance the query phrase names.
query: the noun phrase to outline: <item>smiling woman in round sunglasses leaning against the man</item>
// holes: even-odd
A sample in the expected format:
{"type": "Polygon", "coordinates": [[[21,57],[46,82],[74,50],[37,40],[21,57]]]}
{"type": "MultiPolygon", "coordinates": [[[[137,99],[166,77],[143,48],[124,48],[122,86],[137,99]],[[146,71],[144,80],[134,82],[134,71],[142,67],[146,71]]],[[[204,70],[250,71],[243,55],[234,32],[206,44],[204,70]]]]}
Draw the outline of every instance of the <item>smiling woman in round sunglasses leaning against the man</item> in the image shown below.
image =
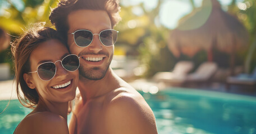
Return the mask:
{"type": "Polygon", "coordinates": [[[79,58],[70,55],[55,30],[38,24],[11,49],[18,98],[34,109],[14,133],[68,133],[68,101],[75,98],[79,58]]]}

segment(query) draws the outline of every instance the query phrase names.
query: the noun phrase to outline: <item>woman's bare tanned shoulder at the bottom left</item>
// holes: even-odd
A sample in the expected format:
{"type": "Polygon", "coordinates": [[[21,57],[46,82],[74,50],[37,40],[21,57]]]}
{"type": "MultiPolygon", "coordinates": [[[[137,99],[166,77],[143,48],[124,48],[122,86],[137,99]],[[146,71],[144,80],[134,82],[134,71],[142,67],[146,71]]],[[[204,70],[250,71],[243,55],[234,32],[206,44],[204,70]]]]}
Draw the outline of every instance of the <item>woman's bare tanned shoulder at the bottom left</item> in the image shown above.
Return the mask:
{"type": "Polygon", "coordinates": [[[38,112],[26,116],[16,133],[68,133],[67,122],[62,116],[51,112],[38,112]]]}

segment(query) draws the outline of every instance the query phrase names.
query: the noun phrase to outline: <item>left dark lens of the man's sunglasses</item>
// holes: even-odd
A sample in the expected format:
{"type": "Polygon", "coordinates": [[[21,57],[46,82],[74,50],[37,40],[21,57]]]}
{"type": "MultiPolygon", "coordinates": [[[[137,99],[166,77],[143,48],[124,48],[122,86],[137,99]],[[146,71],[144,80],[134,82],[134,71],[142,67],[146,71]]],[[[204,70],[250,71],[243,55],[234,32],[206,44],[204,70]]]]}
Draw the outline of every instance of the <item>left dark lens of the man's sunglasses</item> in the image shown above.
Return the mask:
{"type": "Polygon", "coordinates": [[[90,45],[93,40],[92,32],[85,30],[76,31],[74,37],[76,44],[81,47],[90,45]]]}

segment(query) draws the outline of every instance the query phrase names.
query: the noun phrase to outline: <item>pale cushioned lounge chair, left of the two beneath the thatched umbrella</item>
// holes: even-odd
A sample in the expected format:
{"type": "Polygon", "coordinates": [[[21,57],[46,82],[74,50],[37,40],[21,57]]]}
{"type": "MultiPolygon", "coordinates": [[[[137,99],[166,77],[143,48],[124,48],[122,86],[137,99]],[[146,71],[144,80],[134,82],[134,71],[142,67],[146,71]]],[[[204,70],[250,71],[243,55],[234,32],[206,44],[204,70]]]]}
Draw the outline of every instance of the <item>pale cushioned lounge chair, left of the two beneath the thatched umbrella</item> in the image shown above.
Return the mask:
{"type": "Polygon", "coordinates": [[[186,80],[186,75],[194,68],[191,61],[179,61],[172,71],[161,71],[153,76],[155,82],[164,82],[172,85],[181,85],[186,80]]]}

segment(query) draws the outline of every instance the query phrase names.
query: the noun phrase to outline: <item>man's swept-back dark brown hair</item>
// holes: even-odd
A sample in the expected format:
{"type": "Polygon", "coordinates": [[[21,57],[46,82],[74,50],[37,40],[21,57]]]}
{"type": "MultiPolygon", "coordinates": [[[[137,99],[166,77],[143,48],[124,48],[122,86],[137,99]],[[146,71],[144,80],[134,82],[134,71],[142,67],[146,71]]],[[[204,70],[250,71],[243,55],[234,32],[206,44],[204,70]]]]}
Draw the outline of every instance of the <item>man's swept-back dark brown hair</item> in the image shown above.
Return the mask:
{"type": "Polygon", "coordinates": [[[49,20],[64,39],[67,39],[67,31],[69,30],[67,16],[79,9],[106,11],[111,20],[112,28],[121,20],[118,0],[64,0],[58,3],[58,6],[53,9],[49,16],[49,20]]]}

